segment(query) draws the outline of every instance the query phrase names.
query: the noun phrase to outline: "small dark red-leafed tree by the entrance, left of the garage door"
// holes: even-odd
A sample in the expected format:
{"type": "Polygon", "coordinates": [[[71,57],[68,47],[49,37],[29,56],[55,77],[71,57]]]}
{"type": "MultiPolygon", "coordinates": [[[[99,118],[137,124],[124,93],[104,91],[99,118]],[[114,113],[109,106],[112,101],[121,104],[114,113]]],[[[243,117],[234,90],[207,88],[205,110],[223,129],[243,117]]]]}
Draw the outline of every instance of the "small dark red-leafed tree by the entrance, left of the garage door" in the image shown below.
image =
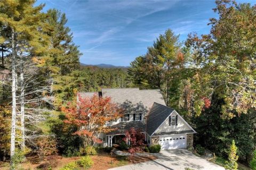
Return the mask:
{"type": "Polygon", "coordinates": [[[131,128],[129,131],[125,132],[125,138],[123,139],[125,142],[130,141],[129,153],[131,154],[130,159],[134,156],[134,154],[138,151],[143,151],[143,147],[145,147],[145,134],[141,133],[141,131],[135,128],[131,128]]]}

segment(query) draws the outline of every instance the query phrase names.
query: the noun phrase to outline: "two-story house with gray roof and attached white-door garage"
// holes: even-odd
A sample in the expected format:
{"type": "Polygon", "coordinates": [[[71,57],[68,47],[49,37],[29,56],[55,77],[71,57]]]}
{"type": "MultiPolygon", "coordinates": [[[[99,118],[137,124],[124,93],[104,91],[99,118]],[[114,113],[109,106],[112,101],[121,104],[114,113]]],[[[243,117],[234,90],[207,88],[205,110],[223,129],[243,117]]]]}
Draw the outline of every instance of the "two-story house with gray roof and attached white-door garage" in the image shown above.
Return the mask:
{"type": "Polygon", "coordinates": [[[101,134],[104,147],[120,143],[125,132],[132,127],[145,134],[149,146],[159,144],[163,150],[193,146],[193,134],[196,131],[179,113],[165,105],[160,90],[102,89],[100,92],[79,92],[79,96],[92,97],[95,93],[111,97],[112,102],[124,109],[121,118],[107,124],[116,130],[101,134]]]}

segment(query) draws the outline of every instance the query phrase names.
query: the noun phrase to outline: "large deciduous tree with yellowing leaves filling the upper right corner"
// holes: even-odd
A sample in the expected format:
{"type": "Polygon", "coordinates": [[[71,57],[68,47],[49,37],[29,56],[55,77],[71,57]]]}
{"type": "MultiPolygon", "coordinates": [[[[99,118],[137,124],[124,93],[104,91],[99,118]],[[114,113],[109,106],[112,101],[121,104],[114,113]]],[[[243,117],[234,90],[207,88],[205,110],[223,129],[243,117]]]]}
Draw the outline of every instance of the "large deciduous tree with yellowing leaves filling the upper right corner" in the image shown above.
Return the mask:
{"type": "Polygon", "coordinates": [[[219,18],[210,19],[210,33],[189,35],[186,45],[199,68],[195,107],[202,109],[203,98],[218,93],[225,100],[223,117],[230,118],[256,106],[256,7],[226,0],[216,4],[219,18]]]}

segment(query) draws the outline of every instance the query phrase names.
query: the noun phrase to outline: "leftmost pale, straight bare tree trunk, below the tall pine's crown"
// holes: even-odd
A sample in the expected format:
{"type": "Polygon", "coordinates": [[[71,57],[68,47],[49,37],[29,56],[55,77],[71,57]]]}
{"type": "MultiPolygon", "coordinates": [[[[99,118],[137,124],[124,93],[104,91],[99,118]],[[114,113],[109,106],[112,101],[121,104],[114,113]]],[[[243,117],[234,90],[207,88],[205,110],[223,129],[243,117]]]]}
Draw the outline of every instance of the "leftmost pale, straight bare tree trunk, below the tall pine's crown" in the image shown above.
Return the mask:
{"type": "Polygon", "coordinates": [[[16,51],[14,40],[14,29],[12,29],[12,126],[11,126],[11,164],[15,154],[15,129],[16,129],[16,51]]]}

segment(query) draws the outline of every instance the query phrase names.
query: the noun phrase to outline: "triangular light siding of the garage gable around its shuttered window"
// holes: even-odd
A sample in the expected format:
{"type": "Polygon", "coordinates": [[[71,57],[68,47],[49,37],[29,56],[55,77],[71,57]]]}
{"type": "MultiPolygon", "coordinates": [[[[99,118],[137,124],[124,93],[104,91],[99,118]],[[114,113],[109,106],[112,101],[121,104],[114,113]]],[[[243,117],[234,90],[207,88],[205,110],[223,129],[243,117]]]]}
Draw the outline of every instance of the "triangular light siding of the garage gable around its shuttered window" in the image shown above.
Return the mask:
{"type": "MultiPolygon", "coordinates": [[[[176,116],[178,113],[174,111],[171,116],[176,116]]],[[[169,117],[163,122],[161,126],[156,130],[157,132],[172,132],[172,131],[187,131],[191,130],[188,125],[186,125],[181,118],[178,117],[178,125],[169,126],[169,117]]]]}

